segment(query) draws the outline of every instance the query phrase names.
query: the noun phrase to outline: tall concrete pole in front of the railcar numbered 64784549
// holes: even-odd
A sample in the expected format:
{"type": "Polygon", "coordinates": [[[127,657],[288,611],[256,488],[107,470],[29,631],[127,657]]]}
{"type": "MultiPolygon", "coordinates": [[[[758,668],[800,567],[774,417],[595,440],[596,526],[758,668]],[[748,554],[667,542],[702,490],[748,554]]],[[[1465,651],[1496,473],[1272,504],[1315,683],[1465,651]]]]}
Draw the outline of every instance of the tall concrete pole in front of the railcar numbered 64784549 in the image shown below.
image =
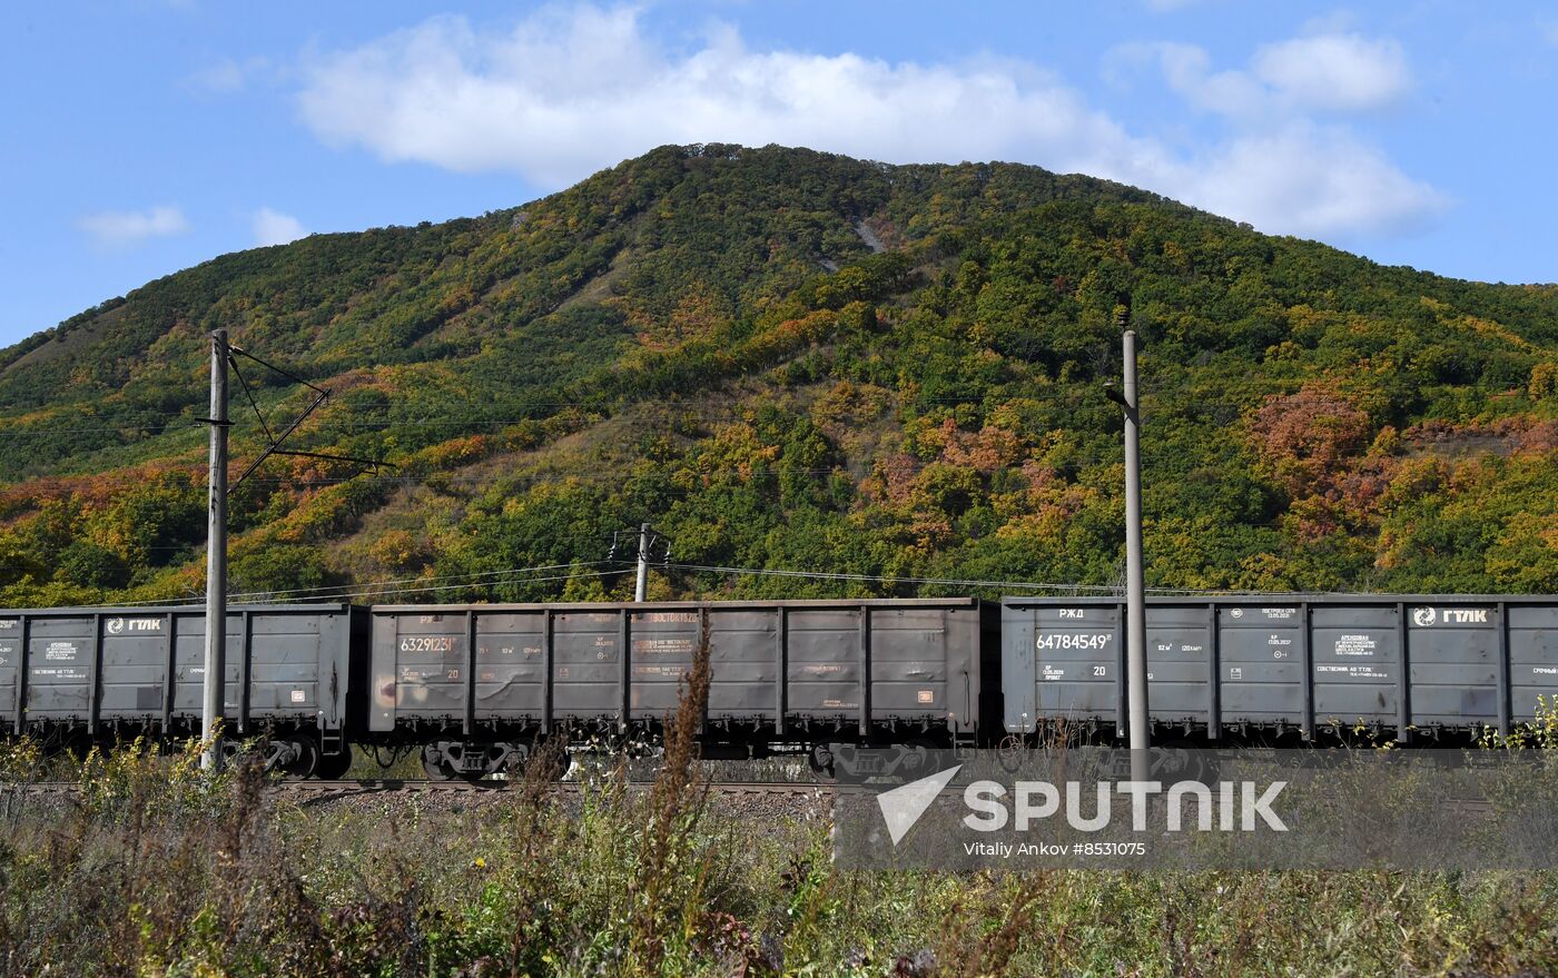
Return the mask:
{"type": "Polygon", "coordinates": [[[1131,779],[1147,780],[1147,607],[1142,572],[1142,411],[1136,391],[1136,332],[1125,330],[1125,690],[1131,779]]]}

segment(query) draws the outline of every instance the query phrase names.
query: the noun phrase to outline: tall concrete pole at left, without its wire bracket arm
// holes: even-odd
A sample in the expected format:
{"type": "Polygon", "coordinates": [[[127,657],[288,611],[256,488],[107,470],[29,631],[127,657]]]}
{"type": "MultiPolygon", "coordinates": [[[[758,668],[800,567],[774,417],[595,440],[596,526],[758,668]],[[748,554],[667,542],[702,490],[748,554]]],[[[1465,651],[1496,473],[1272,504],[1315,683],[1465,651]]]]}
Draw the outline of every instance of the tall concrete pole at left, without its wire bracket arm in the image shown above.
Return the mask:
{"type": "Polygon", "coordinates": [[[206,512],[206,687],[201,709],[201,768],[221,768],[221,723],[227,674],[227,330],[210,335],[210,486],[206,512]]]}

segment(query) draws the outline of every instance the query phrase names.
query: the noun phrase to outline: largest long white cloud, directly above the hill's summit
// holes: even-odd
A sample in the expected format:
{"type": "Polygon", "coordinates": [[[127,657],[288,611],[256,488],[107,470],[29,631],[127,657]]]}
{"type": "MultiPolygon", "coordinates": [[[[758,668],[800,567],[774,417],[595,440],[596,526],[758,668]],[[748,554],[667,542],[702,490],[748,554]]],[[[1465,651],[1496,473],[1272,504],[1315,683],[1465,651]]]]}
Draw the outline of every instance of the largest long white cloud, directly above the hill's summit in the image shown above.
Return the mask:
{"type": "Polygon", "coordinates": [[[659,143],[812,145],[888,162],[1014,156],[1122,171],[1150,151],[1027,65],[749,51],[723,31],[662,53],[631,9],[547,14],[486,36],[430,20],[318,61],[305,121],[333,145],[562,185],[659,143]]]}

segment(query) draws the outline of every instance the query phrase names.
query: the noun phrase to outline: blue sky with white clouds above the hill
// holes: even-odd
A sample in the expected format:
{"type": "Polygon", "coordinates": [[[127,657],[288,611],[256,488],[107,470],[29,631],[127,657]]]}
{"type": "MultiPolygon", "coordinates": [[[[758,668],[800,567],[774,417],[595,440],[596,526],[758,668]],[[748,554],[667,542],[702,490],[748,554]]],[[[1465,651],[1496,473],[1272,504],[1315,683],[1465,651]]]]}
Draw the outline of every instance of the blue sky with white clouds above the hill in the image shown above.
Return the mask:
{"type": "Polygon", "coordinates": [[[1558,280],[1558,6],[59,0],[0,12],[0,347],[215,255],[513,207],[662,143],[1103,176],[1558,280]]]}

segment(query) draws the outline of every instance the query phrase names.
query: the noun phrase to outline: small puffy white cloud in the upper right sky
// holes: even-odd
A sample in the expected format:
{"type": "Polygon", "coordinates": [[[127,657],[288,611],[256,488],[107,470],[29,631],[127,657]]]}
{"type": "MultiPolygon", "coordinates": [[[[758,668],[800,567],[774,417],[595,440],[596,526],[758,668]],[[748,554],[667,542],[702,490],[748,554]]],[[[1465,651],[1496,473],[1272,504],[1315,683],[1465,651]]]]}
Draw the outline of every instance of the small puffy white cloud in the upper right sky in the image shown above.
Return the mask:
{"type": "Polygon", "coordinates": [[[1317,34],[1268,44],[1251,62],[1260,81],[1299,106],[1332,112],[1380,109],[1412,90],[1401,45],[1359,34],[1317,34]]]}

